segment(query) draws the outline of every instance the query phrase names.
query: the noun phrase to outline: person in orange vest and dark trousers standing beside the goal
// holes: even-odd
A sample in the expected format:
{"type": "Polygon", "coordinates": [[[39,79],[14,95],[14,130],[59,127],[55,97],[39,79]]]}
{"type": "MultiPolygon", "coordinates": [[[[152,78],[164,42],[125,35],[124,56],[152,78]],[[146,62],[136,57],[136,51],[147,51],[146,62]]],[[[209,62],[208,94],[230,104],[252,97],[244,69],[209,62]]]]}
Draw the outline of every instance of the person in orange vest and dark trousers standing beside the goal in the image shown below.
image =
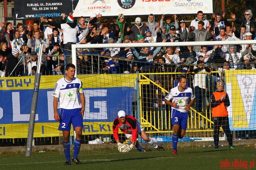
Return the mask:
{"type": "Polygon", "coordinates": [[[218,81],[216,85],[217,90],[211,95],[212,118],[213,118],[213,139],[216,150],[219,149],[219,133],[220,127],[226,134],[229,148],[235,149],[233,146],[233,137],[229,128],[227,107],[230,106],[228,94],[223,91],[224,83],[218,81]]]}

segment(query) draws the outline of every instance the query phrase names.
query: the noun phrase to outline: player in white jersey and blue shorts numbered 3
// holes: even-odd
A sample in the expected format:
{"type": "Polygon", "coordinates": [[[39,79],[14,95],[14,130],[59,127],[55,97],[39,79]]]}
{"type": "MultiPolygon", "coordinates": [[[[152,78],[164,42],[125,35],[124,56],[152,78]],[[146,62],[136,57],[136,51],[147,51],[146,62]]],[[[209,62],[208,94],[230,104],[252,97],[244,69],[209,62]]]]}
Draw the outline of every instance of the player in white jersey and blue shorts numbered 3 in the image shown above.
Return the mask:
{"type": "Polygon", "coordinates": [[[173,155],[177,155],[178,138],[183,138],[187,129],[187,112],[195,102],[195,95],[190,87],[187,87],[187,78],[179,77],[179,84],[170,90],[165,97],[165,103],[172,107],[172,145],[173,155]],[[172,102],[170,101],[172,99],[172,102]],[[190,100],[190,102],[189,102],[190,100]],[[180,130],[181,129],[181,130],[180,130]]]}

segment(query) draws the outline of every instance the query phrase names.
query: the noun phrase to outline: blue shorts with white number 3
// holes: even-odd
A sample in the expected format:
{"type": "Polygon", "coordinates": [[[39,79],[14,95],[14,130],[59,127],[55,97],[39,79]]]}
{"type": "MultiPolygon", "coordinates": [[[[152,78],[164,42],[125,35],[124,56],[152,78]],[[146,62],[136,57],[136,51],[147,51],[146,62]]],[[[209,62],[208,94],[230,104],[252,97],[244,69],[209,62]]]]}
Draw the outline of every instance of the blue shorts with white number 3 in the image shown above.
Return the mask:
{"type": "Polygon", "coordinates": [[[187,112],[180,112],[172,108],[172,125],[179,125],[181,129],[187,129],[187,112]]]}

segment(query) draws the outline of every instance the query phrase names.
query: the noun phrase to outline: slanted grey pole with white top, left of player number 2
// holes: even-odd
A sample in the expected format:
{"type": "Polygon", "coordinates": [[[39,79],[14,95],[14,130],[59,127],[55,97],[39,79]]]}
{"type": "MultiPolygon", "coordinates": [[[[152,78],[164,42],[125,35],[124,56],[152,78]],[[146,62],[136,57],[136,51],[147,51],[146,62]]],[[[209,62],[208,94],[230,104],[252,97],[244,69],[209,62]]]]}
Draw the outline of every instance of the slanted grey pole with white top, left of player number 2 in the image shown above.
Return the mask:
{"type": "Polygon", "coordinates": [[[39,56],[38,56],[38,67],[35,74],[34,92],[32,96],[29,125],[28,125],[26,156],[31,156],[31,150],[32,150],[32,142],[33,142],[33,134],[34,134],[34,126],[35,126],[35,118],[36,118],[36,106],[37,106],[38,91],[39,91],[40,77],[41,77],[40,68],[41,68],[41,60],[42,60],[42,50],[43,50],[43,43],[40,44],[40,50],[39,50],[39,56]]]}

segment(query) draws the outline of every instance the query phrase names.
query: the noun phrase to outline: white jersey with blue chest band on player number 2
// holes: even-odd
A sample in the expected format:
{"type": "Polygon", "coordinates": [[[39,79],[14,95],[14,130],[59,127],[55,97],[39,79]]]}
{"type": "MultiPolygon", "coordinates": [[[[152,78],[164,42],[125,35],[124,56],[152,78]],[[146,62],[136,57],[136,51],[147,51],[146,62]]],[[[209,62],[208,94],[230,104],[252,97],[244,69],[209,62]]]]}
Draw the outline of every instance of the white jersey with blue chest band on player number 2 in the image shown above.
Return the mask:
{"type": "Polygon", "coordinates": [[[82,108],[79,93],[83,93],[81,80],[74,77],[68,82],[63,77],[57,81],[52,96],[59,98],[59,108],[76,109],[82,108]]]}

